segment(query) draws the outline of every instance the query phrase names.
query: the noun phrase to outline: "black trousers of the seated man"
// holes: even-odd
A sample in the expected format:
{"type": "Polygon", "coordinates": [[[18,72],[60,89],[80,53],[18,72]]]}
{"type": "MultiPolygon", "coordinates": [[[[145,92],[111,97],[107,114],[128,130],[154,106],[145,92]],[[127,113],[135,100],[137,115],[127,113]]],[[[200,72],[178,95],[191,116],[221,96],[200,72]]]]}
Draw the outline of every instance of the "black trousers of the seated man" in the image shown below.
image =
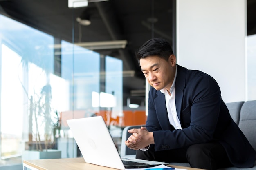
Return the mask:
{"type": "Polygon", "coordinates": [[[147,151],[137,150],[136,158],[170,163],[189,163],[193,168],[208,170],[233,166],[223,146],[216,142],[157,152],[155,146],[151,144],[147,151]]]}

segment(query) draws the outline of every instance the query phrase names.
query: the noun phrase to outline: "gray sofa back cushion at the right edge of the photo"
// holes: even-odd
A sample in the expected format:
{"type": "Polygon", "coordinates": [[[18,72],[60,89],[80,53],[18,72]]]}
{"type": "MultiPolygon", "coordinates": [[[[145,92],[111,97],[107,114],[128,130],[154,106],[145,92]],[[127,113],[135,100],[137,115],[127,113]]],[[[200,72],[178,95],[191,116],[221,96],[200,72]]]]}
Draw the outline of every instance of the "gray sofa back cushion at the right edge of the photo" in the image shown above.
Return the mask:
{"type": "Polygon", "coordinates": [[[256,100],[247,101],[243,104],[238,126],[256,150],[256,100]]]}

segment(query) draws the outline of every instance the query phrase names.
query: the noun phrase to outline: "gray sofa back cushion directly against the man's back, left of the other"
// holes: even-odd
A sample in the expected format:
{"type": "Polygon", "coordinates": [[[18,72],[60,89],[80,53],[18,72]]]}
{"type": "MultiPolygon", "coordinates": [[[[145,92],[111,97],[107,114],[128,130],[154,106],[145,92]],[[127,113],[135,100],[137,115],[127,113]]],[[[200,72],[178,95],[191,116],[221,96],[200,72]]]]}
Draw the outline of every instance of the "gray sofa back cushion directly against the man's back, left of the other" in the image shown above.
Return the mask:
{"type": "Polygon", "coordinates": [[[244,104],[243,101],[226,103],[226,106],[229,109],[229,113],[237,125],[240,119],[240,110],[243,104],[244,104]]]}

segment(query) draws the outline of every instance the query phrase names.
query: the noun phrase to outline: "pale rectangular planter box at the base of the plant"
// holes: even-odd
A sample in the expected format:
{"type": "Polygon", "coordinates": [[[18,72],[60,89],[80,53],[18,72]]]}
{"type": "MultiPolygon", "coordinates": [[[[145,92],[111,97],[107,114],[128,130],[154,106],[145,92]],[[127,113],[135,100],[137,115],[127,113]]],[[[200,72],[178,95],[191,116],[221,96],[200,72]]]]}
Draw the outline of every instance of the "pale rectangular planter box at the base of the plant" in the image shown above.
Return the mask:
{"type": "Polygon", "coordinates": [[[56,159],[56,158],[61,158],[61,150],[56,150],[56,149],[48,149],[43,151],[24,150],[22,154],[23,160],[56,159]]]}

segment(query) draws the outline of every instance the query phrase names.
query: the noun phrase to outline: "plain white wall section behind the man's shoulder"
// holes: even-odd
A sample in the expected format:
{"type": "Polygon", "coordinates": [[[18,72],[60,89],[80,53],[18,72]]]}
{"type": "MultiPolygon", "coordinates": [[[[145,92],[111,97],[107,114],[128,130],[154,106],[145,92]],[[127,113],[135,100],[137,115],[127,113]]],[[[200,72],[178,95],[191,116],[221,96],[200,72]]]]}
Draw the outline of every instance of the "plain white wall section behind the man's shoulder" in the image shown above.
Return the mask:
{"type": "Polygon", "coordinates": [[[224,102],[246,99],[246,0],[177,0],[177,64],[211,75],[224,102]]]}

